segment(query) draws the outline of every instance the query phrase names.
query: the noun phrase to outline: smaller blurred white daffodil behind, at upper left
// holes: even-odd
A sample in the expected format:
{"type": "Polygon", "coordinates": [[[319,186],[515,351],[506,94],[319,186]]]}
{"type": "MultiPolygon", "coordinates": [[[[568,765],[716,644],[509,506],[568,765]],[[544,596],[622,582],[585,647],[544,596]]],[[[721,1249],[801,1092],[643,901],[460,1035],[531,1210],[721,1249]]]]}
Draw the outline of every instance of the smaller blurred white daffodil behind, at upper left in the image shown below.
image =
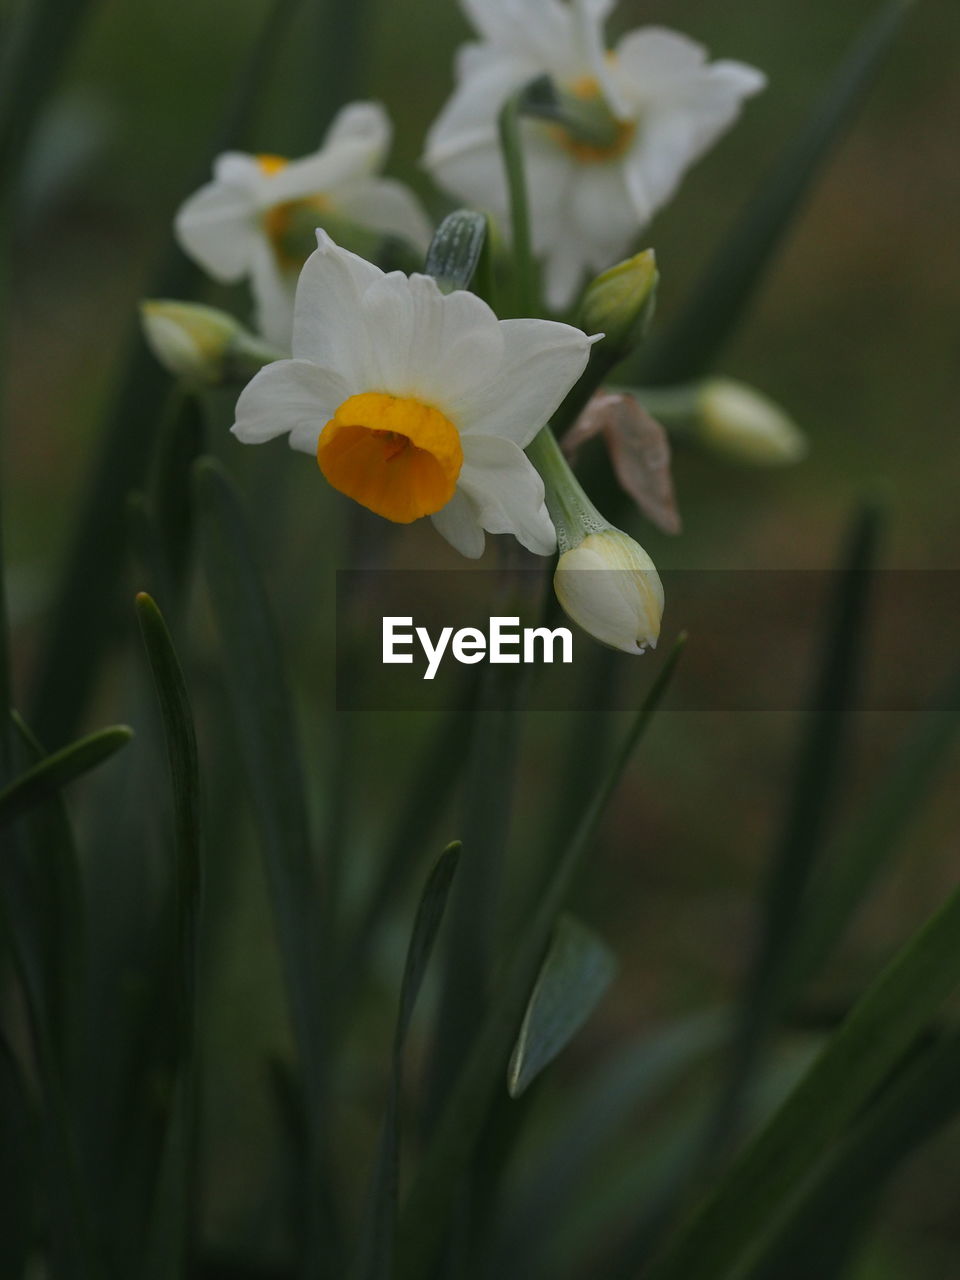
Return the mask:
{"type": "Polygon", "coordinates": [[[214,279],[250,279],[261,334],[289,351],[297,276],[317,224],[397,236],[425,251],[430,223],[413,193],[379,177],[392,127],[378,102],[344,106],[301,160],[228,151],[214,180],[179,209],[180,247],[214,279]]]}

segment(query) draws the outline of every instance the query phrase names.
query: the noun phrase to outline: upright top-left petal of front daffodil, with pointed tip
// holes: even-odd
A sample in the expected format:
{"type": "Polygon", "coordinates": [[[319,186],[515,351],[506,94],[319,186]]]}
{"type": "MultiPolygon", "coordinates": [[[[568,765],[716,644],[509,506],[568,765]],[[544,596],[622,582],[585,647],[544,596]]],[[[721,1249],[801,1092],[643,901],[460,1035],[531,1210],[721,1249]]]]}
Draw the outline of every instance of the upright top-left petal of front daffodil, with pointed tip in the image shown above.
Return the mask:
{"type": "Polygon", "coordinates": [[[383,271],[319,230],[317,248],[300,273],[293,312],[293,355],[335,369],[352,390],[365,387],[369,343],[361,298],[383,271]]]}

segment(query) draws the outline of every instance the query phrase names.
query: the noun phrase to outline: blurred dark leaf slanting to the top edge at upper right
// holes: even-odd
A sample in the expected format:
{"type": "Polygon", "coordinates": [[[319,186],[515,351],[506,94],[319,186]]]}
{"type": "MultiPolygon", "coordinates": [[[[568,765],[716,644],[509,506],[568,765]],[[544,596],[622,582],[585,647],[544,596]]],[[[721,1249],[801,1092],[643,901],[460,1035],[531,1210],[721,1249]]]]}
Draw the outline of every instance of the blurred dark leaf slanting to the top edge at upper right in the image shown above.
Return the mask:
{"type": "Polygon", "coordinates": [[[641,385],[701,376],[733,334],[909,8],[910,0],[890,0],[865,27],[799,137],[721,243],[690,301],[637,362],[635,380],[641,385]]]}

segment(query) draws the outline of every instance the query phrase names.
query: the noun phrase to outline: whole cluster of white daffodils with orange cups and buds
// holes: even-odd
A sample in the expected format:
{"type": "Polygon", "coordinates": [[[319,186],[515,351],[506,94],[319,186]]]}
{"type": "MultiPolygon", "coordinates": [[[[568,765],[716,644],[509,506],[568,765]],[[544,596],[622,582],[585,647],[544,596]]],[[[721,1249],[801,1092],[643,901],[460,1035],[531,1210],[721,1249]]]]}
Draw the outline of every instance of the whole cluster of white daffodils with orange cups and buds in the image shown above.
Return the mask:
{"type": "MultiPolygon", "coordinates": [[[[582,328],[535,314],[498,319],[489,293],[470,291],[470,271],[453,288],[431,273],[438,239],[413,193],[383,175],[390,123],[374,102],[346,106],[302,159],[221,155],[212,180],[179,210],[183,250],[214,279],[248,284],[256,333],[206,307],[159,302],[145,305],[145,328],[178,376],[246,383],[237,439],[287,435],[333,488],[379,516],[429,516],[467,557],[483,553],[486,534],[512,534],[538,556],[559,541],[554,584],[570,616],[607,644],[643,652],[660,627],[657,571],[599,515],[550,424],[571,428],[643,339],[653,255],[616,264],[764,77],[710,63],[699,45],[655,27],[608,50],[612,0],[462,5],[479,40],[460,51],[424,166],[488,215],[500,252],[512,246],[517,262],[540,261],[554,314],[577,298],[588,273],[603,273],[581,300],[582,328]],[[512,141],[511,106],[520,114],[512,141]],[[518,165],[520,186],[511,177],[518,165]],[[428,250],[424,274],[378,265],[384,256],[422,264],[428,250]]],[[[645,404],[643,390],[636,397],[645,404]]],[[[780,460],[787,442],[799,454],[792,425],[776,413],[764,420],[759,401],[726,396],[718,426],[716,399],[691,389],[684,401],[687,416],[707,424],[705,440],[749,440],[741,452],[753,460],[780,460]],[[749,419],[740,433],[730,424],[739,412],[749,419]],[[769,421],[777,439],[764,449],[769,421]]],[[[648,410],[657,412],[645,404],[622,421],[652,422],[648,410]]],[[[628,452],[617,430],[608,431],[613,447],[628,452]]],[[[646,430],[668,463],[663,429],[646,430]]],[[[644,488],[636,470],[631,492],[644,488]]]]}

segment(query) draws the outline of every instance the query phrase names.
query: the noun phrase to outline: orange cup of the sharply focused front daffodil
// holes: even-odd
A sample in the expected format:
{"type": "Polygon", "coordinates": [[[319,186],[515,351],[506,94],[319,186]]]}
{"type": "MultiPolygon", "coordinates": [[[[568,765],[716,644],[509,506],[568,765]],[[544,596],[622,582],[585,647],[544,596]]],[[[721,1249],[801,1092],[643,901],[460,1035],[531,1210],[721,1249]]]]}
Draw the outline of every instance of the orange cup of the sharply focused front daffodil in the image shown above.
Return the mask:
{"type": "Polygon", "coordinates": [[[334,489],[408,525],[451,500],[463,449],[453,422],[433,406],[364,392],[346,399],[323,429],[316,461],[334,489]]]}

